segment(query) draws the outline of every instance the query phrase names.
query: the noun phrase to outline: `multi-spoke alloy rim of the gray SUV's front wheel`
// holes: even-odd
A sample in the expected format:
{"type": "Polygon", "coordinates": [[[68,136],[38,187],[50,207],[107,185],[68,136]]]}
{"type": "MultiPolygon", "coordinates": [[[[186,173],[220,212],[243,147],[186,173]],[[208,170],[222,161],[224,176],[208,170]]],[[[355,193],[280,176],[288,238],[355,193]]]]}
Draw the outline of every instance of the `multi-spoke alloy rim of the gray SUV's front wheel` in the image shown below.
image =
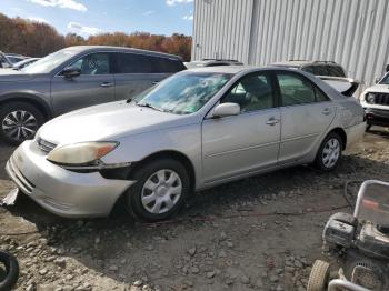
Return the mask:
{"type": "Polygon", "coordinates": [[[16,110],[6,116],[1,128],[8,138],[20,141],[36,134],[38,122],[32,113],[26,110],[16,110]]]}

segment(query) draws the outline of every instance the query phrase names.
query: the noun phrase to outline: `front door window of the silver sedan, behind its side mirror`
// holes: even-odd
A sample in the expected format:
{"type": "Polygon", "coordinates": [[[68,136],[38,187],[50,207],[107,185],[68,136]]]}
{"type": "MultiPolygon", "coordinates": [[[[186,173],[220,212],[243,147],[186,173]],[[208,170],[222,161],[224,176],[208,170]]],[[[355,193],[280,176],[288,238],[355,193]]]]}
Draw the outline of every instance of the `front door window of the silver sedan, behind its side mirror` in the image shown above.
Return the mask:
{"type": "Polygon", "coordinates": [[[251,73],[241,78],[222,98],[221,103],[240,106],[241,112],[257,111],[273,107],[271,80],[263,73],[251,73]]]}

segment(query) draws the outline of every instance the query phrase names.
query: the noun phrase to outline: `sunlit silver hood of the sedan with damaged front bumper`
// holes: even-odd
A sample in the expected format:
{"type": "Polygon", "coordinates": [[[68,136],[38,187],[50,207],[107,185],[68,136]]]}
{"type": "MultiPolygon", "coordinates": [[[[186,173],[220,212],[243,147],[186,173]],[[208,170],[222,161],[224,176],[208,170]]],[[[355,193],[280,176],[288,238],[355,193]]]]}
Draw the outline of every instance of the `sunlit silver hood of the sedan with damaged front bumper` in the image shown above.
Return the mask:
{"type": "Polygon", "coordinates": [[[121,138],[192,123],[189,116],[111,102],[77,110],[46,123],[38,137],[54,144],[84,141],[120,141],[121,138]]]}

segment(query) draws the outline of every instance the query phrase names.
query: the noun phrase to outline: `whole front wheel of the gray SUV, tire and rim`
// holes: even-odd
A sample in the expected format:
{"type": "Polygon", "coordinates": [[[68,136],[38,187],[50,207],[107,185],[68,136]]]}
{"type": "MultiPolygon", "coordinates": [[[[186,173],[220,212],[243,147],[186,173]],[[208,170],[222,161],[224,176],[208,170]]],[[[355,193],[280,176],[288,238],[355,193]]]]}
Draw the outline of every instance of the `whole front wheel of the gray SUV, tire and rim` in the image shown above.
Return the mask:
{"type": "Polygon", "coordinates": [[[42,112],[30,103],[11,102],[0,107],[0,138],[8,144],[18,146],[32,139],[43,122],[42,112]]]}

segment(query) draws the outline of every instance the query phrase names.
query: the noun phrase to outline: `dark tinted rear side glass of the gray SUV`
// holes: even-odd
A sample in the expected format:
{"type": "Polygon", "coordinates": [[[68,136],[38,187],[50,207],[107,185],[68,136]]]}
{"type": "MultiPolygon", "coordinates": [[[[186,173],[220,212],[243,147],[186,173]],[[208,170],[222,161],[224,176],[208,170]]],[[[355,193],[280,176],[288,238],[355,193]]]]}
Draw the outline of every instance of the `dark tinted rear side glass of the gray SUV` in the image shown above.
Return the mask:
{"type": "Polygon", "coordinates": [[[138,53],[117,53],[116,63],[117,73],[172,73],[184,69],[179,60],[138,53]]]}

